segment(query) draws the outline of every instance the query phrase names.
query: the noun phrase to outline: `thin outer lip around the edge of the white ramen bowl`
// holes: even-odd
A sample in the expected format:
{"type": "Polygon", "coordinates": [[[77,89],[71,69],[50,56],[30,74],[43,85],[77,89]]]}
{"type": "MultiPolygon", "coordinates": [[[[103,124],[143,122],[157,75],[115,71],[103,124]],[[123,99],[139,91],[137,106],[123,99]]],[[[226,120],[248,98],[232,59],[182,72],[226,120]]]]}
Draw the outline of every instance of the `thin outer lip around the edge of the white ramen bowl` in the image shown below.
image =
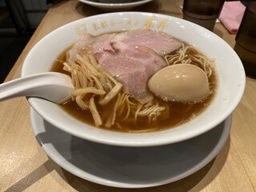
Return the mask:
{"type": "MultiPolygon", "coordinates": [[[[205,28],[203,28],[202,26],[198,26],[192,22],[187,22],[181,18],[175,18],[173,16],[169,16],[169,15],[165,15],[165,14],[154,14],[154,13],[147,13],[147,12],[134,12],[134,11],[130,11],[130,12],[114,12],[114,13],[106,13],[106,14],[98,14],[98,15],[94,15],[94,16],[90,16],[87,18],[81,18],[78,19],[74,22],[80,22],[80,21],[86,21],[86,20],[90,20],[90,19],[94,19],[94,18],[99,18],[99,17],[105,17],[106,15],[108,16],[116,16],[116,15],[147,15],[147,16],[156,16],[156,17],[160,17],[160,18],[166,18],[166,19],[174,19],[178,22],[185,22],[186,24],[192,25],[192,26],[196,26],[199,27],[198,29],[206,31],[207,33],[210,33],[210,35],[212,35],[214,38],[218,38],[219,41],[221,41],[222,43],[224,43],[224,45],[226,45],[227,47],[229,47],[228,49],[230,49],[230,51],[234,51],[230,45],[225,42],[222,38],[218,37],[217,34],[214,34],[213,32],[206,30],[205,28]]],[[[64,26],[58,27],[57,29],[51,31],[49,34],[46,34],[45,37],[41,38],[35,45],[34,47],[30,50],[29,54],[27,54],[26,59],[23,62],[23,66],[22,66],[22,77],[26,76],[26,62],[28,60],[28,58],[30,58],[30,55],[33,53],[33,50],[35,49],[35,47],[37,47],[38,44],[40,44],[41,42],[44,41],[44,39],[49,38],[51,34],[53,33],[58,33],[58,30],[62,30],[62,28],[68,27],[70,26],[72,23],[74,22],[70,22],[67,23],[64,26]]],[[[152,132],[152,133],[143,133],[143,134],[130,134],[130,133],[120,133],[120,132],[115,132],[115,131],[108,131],[108,130],[103,130],[103,131],[108,131],[111,134],[114,135],[122,135],[126,137],[126,135],[128,136],[128,140],[125,141],[120,141],[119,139],[117,140],[110,140],[108,138],[104,138],[103,137],[92,137],[91,135],[87,135],[87,134],[79,134],[76,133],[74,130],[69,129],[68,127],[63,127],[63,124],[56,121],[53,118],[50,118],[49,116],[47,116],[47,114],[44,114],[42,110],[40,110],[40,108],[38,108],[38,103],[37,103],[37,99],[38,98],[27,98],[28,102],[30,103],[30,106],[33,107],[33,109],[40,115],[42,116],[42,118],[44,118],[47,122],[50,122],[52,125],[58,127],[61,130],[66,131],[69,134],[72,134],[78,138],[83,138],[86,140],[89,140],[91,142],[98,142],[98,143],[102,143],[102,144],[107,144],[107,145],[113,145],[113,146],[160,146],[160,145],[166,145],[166,144],[170,144],[170,143],[174,143],[174,142],[182,142],[184,140],[190,139],[190,138],[194,138],[200,134],[205,133],[208,130],[213,129],[215,126],[218,126],[218,124],[220,124],[221,122],[223,122],[233,111],[234,109],[238,106],[238,103],[240,102],[240,100],[242,99],[242,95],[244,93],[245,90],[245,86],[246,86],[246,74],[244,71],[244,68],[242,66],[242,62],[240,60],[240,58],[238,57],[237,54],[235,59],[239,62],[239,65],[241,66],[240,70],[241,71],[241,80],[242,80],[242,87],[240,87],[240,91],[239,94],[236,95],[236,98],[234,99],[233,105],[231,105],[224,113],[222,113],[222,116],[218,117],[217,119],[214,119],[213,122],[211,122],[210,124],[206,125],[203,129],[197,130],[197,131],[192,131],[189,134],[182,134],[182,136],[178,137],[178,138],[162,138],[162,139],[156,139],[156,140],[143,140],[140,141],[139,138],[141,137],[148,137],[149,135],[155,134],[155,133],[160,133],[160,132],[165,132],[166,130],[162,130],[162,131],[157,131],[157,132],[152,132]],[[133,138],[130,138],[130,135],[133,135],[133,138]],[[146,136],[147,135],[147,136],[146,136]]],[[[213,102],[213,101],[212,101],[213,102]]],[[[86,125],[88,126],[88,125],[86,125]]],[[[175,127],[176,128],[176,127],[175,127]]],[[[98,129],[98,128],[94,128],[94,129],[98,129]]],[[[102,130],[102,129],[98,129],[98,130],[102,130]]]]}

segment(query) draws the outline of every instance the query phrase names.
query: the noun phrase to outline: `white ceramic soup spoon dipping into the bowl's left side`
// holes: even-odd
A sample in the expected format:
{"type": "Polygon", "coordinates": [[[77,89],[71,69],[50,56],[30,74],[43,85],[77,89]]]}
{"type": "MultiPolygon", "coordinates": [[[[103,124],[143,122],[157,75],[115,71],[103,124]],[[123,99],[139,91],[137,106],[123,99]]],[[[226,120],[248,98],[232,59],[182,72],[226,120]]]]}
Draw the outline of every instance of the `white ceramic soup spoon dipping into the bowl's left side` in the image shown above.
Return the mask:
{"type": "Polygon", "coordinates": [[[70,97],[72,89],[74,90],[70,77],[65,74],[55,72],[32,74],[25,78],[17,78],[2,83],[0,85],[0,102],[22,96],[33,96],[46,98],[52,102],[62,102],[60,100],[70,97]],[[65,89],[70,91],[66,92],[65,89]]]}

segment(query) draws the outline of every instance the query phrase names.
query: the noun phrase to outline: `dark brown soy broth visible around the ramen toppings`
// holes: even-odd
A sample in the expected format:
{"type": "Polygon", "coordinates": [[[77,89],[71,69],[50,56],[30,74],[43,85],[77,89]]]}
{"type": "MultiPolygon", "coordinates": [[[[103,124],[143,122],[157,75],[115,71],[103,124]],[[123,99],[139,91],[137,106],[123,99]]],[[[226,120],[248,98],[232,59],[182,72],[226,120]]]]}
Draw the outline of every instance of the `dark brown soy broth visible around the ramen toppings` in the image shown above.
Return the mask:
{"type": "MultiPolygon", "coordinates": [[[[66,50],[69,50],[70,47],[68,47],[66,50]]],[[[66,50],[62,52],[58,56],[58,58],[55,60],[52,68],[50,71],[53,72],[59,72],[62,74],[68,74],[65,70],[63,70],[63,62],[66,61],[66,50]]],[[[213,100],[216,89],[217,89],[217,77],[215,72],[213,71],[213,74],[209,78],[210,83],[210,94],[208,98],[202,103],[195,103],[195,104],[184,104],[182,102],[164,102],[160,98],[156,98],[158,100],[159,105],[167,105],[169,106],[170,113],[164,117],[161,115],[158,116],[156,121],[149,121],[147,117],[145,118],[138,118],[137,122],[134,123],[134,121],[126,121],[122,122],[123,117],[117,117],[117,122],[122,122],[122,129],[120,127],[114,125],[111,126],[111,128],[106,128],[105,126],[97,127],[105,130],[114,130],[118,132],[134,132],[134,131],[140,131],[140,130],[148,130],[152,129],[152,131],[158,131],[158,130],[166,130],[173,128],[175,126],[182,125],[183,123],[189,122],[191,119],[198,116],[198,114],[201,114],[203,110],[206,109],[207,106],[210,105],[210,102],[213,100]]],[[[106,122],[106,118],[110,115],[110,109],[114,107],[114,101],[110,102],[106,106],[99,106],[97,103],[97,109],[99,113],[102,116],[102,121],[106,122]]],[[[77,118],[79,121],[84,122],[90,126],[94,126],[94,119],[92,118],[92,115],[90,114],[90,110],[82,110],[76,102],[72,102],[71,99],[62,103],[60,105],[63,110],[65,110],[68,114],[73,116],[74,118],[77,118]]]]}

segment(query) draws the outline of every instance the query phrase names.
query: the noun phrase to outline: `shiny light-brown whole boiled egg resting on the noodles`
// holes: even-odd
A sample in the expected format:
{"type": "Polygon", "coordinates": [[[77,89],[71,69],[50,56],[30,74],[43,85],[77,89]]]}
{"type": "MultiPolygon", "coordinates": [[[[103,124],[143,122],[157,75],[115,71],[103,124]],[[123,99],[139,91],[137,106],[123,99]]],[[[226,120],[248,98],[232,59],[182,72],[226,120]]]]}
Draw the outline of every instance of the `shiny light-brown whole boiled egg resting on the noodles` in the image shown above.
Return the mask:
{"type": "Polygon", "coordinates": [[[210,94],[206,73],[198,66],[176,64],[158,70],[149,90],[164,101],[200,102],[210,94]]]}

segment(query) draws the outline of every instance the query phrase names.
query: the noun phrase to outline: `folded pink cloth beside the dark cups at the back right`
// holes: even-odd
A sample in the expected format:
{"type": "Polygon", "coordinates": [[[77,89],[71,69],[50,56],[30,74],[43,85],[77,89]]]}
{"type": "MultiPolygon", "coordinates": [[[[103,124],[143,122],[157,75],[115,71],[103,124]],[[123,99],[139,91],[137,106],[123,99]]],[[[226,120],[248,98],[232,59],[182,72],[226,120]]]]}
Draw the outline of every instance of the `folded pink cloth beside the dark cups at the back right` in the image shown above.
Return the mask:
{"type": "Polygon", "coordinates": [[[225,2],[218,19],[230,34],[237,34],[245,10],[246,6],[242,5],[242,2],[225,2]]]}

